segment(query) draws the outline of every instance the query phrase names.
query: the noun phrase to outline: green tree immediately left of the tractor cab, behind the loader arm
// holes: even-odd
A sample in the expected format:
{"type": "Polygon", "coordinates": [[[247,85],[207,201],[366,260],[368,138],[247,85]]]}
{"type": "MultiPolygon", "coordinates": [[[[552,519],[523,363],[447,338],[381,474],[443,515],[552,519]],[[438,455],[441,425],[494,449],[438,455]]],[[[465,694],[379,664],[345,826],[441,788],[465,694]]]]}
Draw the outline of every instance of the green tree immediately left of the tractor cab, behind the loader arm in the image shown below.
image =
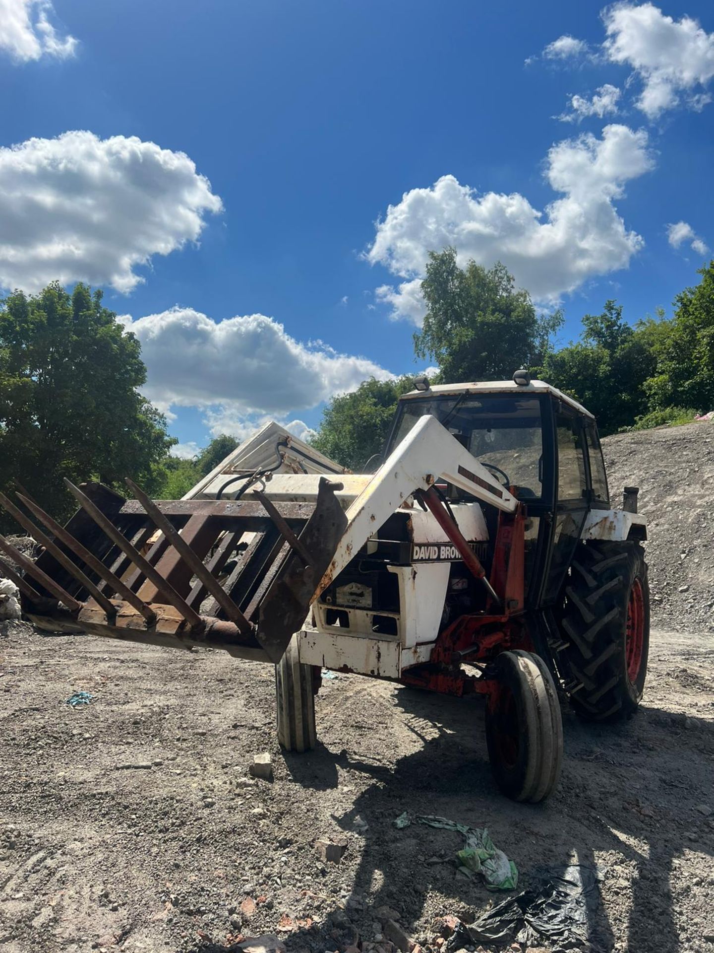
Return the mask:
{"type": "Polygon", "coordinates": [[[372,377],[351,394],[333,397],[323,413],[317,436],[310,441],[312,446],[336,463],[360,473],[371,456],[384,450],[397,401],[413,389],[413,377],[372,377]]]}

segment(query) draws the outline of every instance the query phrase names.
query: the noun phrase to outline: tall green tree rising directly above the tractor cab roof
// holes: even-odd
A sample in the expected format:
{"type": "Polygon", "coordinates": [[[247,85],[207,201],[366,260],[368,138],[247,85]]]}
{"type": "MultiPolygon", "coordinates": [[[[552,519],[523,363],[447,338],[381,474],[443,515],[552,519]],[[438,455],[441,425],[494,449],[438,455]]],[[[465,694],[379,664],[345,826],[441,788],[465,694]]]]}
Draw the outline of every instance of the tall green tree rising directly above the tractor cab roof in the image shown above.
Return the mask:
{"type": "Polygon", "coordinates": [[[536,314],[530,295],[516,289],[500,262],[459,268],[453,248],[429,253],[422,294],[427,311],[414,350],[436,360],[448,383],[509,379],[521,367],[541,364],[563,322],[560,311],[536,314]]]}

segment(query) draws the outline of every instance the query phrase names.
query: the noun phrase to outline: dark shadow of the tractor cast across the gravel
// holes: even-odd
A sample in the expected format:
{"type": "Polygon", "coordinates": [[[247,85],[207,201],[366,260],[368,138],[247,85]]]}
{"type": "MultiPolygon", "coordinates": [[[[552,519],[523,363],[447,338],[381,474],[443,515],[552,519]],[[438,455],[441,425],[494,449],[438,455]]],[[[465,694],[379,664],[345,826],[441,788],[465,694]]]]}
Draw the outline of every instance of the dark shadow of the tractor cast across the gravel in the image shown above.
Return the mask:
{"type": "MultiPolygon", "coordinates": [[[[372,938],[370,910],[381,905],[399,911],[408,930],[417,921],[423,925],[451,913],[473,918],[510,896],[487,891],[456,871],[454,854],[463,845],[458,833],[418,823],[397,829],[394,820],[408,811],[486,827],[516,862],[519,890],[538,886],[538,868],[544,866],[599,867],[605,902],[587,924],[593,950],[609,953],[625,939],[633,953],[680,948],[672,869],[687,846],[714,853],[714,833],[696,810],[711,800],[705,768],[714,754],[710,722],[685,728],[684,718],[645,706],[625,724],[588,725],[565,708],[560,785],[544,804],[528,805],[506,800],[492,781],[482,700],[411,688],[399,688],[394,698],[399,730],[412,732],[419,743],[406,757],[380,763],[321,745],[307,759],[286,758],[295,780],[318,790],[336,787],[345,771],[372,781],[347,813],[334,818],[364,843],[352,885],[357,904],[347,908],[364,939],[372,938]],[[683,827],[683,819],[691,826],[683,827]],[[684,831],[697,842],[683,841],[684,831]],[[620,908],[619,922],[627,920],[625,936],[622,926],[610,923],[608,910],[614,906],[620,908]]],[[[335,914],[339,920],[337,908],[335,914]]],[[[325,948],[336,948],[333,923],[327,921],[323,930],[325,948]]],[[[412,935],[427,939],[418,927],[412,935]]]]}

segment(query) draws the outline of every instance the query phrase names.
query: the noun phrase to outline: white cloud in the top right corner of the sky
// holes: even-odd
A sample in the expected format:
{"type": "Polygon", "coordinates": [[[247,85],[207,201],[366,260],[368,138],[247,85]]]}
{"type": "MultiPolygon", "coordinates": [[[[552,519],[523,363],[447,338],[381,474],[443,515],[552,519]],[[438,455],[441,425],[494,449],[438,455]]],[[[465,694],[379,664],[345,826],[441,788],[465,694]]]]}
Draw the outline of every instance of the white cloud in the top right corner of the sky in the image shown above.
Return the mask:
{"type": "Polygon", "coordinates": [[[714,33],[689,16],[674,20],[651,3],[617,3],[605,8],[603,19],[605,55],[642,80],[637,106],[650,119],[677,106],[682,95],[695,109],[709,101],[697,88],[714,76],[714,33]]]}

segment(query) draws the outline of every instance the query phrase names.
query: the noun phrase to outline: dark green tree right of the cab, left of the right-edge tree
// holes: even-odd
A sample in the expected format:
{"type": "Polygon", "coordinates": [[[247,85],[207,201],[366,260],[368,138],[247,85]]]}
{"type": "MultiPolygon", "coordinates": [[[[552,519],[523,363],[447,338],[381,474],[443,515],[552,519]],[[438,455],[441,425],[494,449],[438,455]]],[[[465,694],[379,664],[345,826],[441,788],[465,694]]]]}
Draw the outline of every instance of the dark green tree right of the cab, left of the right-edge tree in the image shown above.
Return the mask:
{"type": "Polygon", "coordinates": [[[652,328],[636,328],[622,305],[605,302],[602,314],[585,314],[581,340],[545,355],[538,375],[574,396],[598,419],[603,434],[630,426],[645,414],[645,379],[654,369],[652,328]]]}

